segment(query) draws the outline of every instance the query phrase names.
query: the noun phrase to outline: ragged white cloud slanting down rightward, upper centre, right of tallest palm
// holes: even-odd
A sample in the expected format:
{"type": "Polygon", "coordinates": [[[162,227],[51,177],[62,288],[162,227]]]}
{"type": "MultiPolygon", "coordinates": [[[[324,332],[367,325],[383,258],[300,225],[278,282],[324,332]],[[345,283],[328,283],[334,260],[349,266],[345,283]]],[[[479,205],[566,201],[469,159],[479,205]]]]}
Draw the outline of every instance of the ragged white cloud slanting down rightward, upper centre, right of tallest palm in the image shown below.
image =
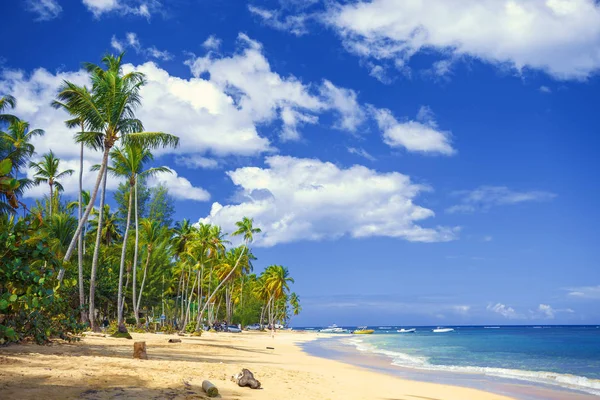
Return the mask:
{"type": "Polygon", "coordinates": [[[318,122],[317,114],[334,112],[339,118],[334,127],[353,132],[364,112],[356,93],[338,88],[325,80],[313,90],[294,76],[282,77],[271,70],[262,45],[245,34],[238,35],[240,51],[234,55],[204,57],[187,61],[195,77],[210,76],[210,81],[227,93],[235,106],[255,123],[282,122],[282,139],[299,139],[298,127],[318,122]]]}

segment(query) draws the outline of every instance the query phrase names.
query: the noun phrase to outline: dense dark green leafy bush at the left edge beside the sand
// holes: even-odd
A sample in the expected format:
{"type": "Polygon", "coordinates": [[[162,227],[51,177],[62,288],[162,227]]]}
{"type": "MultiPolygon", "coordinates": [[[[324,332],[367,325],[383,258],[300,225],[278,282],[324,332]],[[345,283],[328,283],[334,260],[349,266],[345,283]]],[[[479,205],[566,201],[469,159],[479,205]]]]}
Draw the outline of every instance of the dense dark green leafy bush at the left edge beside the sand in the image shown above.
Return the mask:
{"type": "Polygon", "coordinates": [[[43,225],[32,217],[16,223],[0,221],[0,340],[31,338],[45,343],[79,332],[78,308],[70,304],[76,282],[65,280],[60,293],[53,287],[60,261],[43,235],[43,225]]]}

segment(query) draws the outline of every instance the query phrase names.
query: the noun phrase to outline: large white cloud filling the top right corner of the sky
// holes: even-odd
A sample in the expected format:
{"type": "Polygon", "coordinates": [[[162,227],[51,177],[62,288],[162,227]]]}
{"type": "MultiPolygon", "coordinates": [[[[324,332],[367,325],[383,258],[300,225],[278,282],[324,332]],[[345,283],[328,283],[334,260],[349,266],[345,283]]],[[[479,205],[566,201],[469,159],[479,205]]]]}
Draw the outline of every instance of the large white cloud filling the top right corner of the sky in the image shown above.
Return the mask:
{"type": "Polygon", "coordinates": [[[349,51],[400,69],[424,51],[557,79],[585,79],[600,67],[595,0],[358,1],[328,7],[322,20],[349,51]]]}

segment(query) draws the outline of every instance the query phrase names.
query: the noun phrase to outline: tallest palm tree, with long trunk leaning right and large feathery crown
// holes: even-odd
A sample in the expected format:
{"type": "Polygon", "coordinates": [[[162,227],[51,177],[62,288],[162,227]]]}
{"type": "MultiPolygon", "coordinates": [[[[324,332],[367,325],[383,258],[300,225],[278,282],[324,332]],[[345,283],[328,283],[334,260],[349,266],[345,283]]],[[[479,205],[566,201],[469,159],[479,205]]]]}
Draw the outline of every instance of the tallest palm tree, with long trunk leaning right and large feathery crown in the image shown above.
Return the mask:
{"type": "MultiPolygon", "coordinates": [[[[105,181],[108,158],[113,146],[119,140],[124,144],[137,143],[147,148],[179,145],[179,138],[176,136],[163,132],[144,132],[142,122],[135,118],[135,109],[141,104],[140,89],[146,84],[146,79],[140,72],[123,74],[122,58],[123,53],[119,56],[104,56],[104,68],[85,63],[84,68],[89,72],[92,81],[91,90],[65,81],[57,94],[57,103],[84,121],[87,131],[80,132],[78,140],[92,145],[96,150],[103,150],[91,202],[79,221],[77,231],[65,254],[65,262],[71,258],[77,238],[96,201],[100,185],[105,181]]],[[[92,270],[94,267],[97,268],[97,265],[92,265],[92,270]]],[[[62,279],[63,275],[64,270],[61,270],[59,279],[62,279]]]]}

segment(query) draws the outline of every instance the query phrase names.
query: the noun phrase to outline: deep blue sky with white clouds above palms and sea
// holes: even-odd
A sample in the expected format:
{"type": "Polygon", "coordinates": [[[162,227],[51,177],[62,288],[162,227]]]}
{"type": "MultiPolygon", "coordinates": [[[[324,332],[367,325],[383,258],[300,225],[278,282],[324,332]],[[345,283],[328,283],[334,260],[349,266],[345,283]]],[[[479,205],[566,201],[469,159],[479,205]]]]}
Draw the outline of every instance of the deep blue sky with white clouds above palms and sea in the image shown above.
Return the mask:
{"type": "Polygon", "coordinates": [[[124,50],[146,128],[181,137],[149,184],[178,219],[253,217],[293,324],[600,322],[593,0],[6,3],[0,94],[38,156],[76,168],[49,102],[124,50]]]}

